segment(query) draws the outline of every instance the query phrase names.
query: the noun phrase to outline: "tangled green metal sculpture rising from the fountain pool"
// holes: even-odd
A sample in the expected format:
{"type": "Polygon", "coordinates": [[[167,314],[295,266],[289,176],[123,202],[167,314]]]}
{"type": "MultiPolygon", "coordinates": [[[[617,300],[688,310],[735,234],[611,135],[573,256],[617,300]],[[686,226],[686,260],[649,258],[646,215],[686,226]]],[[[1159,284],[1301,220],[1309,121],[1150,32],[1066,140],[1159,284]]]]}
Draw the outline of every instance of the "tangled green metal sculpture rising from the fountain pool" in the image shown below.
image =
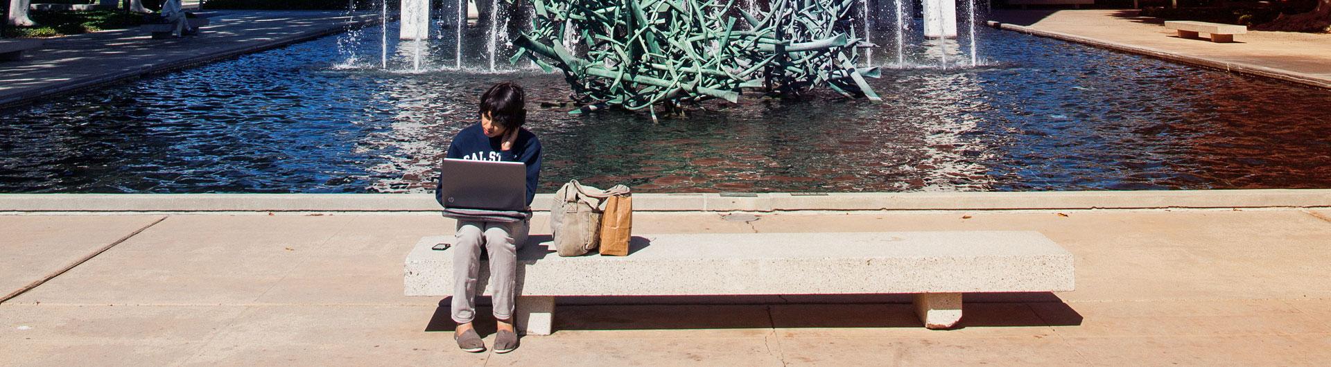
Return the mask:
{"type": "Polygon", "coordinates": [[[510,61],[562,69],[588,104],[571,113],[736,102],[745,89],[827,86],[877,101],[864,80],[877,68],[856,66],[856,48],[869,45],[851,27],[855,1],[773,0],[749,13],[735,0],[532,0],[531,31],[510,61]]]}

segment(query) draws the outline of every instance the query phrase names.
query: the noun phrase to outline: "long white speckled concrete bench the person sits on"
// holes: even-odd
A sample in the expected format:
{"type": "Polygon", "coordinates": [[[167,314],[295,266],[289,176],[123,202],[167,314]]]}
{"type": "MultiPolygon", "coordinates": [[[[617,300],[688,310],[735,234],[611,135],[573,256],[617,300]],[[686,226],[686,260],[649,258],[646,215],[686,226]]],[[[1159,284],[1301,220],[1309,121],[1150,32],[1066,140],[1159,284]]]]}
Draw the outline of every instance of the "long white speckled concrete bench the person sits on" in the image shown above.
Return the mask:
{"type": "MultiPolygon", "coordinates": [[[[407,254],[411,297],[453,295],[453,253],[407,254]]],[[[1036,231],[744,233],[635,237],[627,257],[518,251],[519,331],[548,335],[555,297],[914,294],[929,328],[961,320],[962,293],[1073,290],[1073,255],[1036,231]],[[833,242],[835,241],[835,242],[833,242]]],[[[478,289],[488,266],[480,266],[478,289]]]]}

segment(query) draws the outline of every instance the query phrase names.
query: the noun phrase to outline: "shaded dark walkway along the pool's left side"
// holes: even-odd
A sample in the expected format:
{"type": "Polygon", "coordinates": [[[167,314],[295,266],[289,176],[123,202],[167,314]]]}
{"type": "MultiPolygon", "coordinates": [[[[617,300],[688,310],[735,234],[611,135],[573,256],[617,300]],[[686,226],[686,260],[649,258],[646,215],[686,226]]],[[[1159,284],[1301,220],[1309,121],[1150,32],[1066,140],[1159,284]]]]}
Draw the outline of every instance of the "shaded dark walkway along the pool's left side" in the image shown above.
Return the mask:
{"type": "Polygon", "coordinates": [[[378,16],[310,11],[206,12],[212,25],[198,36],[153,40],[136,28],[45,40],[23,61],[0,62],[0,106],[345,31],[378,16]]]}

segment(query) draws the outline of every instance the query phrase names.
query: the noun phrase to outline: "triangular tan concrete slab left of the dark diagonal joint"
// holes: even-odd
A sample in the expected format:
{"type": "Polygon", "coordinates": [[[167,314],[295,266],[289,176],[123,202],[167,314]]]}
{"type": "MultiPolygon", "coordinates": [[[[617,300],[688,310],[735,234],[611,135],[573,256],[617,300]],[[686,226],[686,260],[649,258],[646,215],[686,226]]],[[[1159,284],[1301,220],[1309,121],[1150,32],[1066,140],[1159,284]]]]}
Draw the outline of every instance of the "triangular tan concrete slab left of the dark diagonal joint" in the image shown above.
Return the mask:
{"type": "Polygon", "coordinates": [[[0,215],[0,297],[84,259],[162,215],[0,215]]]}

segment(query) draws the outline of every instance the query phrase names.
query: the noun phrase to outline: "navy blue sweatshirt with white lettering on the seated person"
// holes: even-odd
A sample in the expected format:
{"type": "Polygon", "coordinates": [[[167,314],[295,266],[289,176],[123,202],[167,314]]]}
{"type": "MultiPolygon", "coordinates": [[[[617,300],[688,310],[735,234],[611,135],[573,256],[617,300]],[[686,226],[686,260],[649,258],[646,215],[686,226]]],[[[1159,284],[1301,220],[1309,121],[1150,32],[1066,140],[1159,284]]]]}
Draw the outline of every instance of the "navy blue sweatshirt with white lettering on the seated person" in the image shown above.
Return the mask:
{"type": "MultiPolygon", "coordinates": [[[[487,137],[480,122],[467,126],[453,137],[449,144],[447,158],[473,161],[502,161],[523,162],[527,165],[527,206],[536,197],[536,181],[540,178],[540,140],[527,129],[518,128],[518,138],[512,142],[511,150],[500,150],[503,136],[487,137]]],[[[443,174],[439,174],[439,184],[434,187],[439,193],[443,186],[443,174]]],[[[437,194],[438,195],[438,194],[437,194]]]]}

